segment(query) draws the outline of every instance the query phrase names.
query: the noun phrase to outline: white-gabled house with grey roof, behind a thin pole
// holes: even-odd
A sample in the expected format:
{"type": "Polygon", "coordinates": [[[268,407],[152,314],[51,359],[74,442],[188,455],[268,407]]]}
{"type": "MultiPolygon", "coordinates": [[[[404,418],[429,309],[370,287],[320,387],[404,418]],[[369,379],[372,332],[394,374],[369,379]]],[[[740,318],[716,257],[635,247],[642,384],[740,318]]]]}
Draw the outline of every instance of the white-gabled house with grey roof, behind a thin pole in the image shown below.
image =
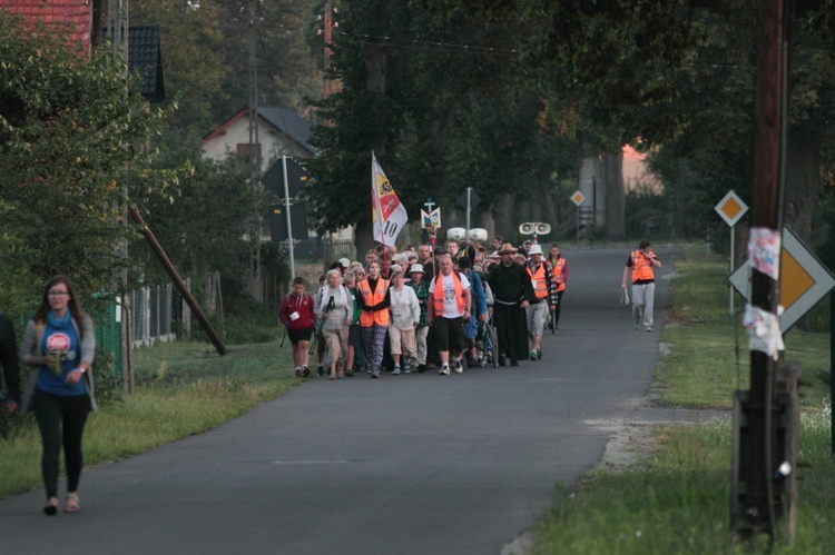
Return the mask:
{"type": "MultiPolygon", "coordinates": [[[[263,170],[278,157],[311,158],[316,148],[310,143],[313,123],[294,110],[284,107],[261,106],[258,115],[258,142],[263,170]]],[[[249,110],[242,108],[203,137],[206,158],[225,160],[230,153],[249,157],[249,110]]]]}

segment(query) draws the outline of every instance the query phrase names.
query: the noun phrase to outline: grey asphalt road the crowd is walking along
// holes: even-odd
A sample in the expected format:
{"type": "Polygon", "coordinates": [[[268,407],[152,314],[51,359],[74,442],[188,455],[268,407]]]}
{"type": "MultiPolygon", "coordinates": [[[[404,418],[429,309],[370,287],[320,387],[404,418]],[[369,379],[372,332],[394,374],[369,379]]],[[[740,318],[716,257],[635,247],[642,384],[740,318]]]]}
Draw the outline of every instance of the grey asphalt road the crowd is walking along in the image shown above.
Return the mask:
{"type": "Polygon", "coordinates": [[[498,554],[556,484],[600,460],[611,428],[599,423],[640,409],[671,274],[672,250],[657,252],[652,333],[619,304],[628,249],[568,250],[542,360],[312,378],[215,430],[86,470],[76,515],[46,517],[41,487],[0,499],[0,551],[498,554]]]}

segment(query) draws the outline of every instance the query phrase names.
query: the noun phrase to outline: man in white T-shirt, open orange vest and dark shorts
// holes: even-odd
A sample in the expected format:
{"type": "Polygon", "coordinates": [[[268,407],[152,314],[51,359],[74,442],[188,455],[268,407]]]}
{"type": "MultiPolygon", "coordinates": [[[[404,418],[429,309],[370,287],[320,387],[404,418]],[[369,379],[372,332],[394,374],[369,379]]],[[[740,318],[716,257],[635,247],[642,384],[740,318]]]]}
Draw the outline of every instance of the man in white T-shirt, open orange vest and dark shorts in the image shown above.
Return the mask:
{"type": "Polygon", "coordinates": [[[464,371],[461,354],[464,350],[464,321],[470,319],[470,281],[466,276],[453,270],[452,257],[442,255],[440,271],[429,286],[432,307],[426,313],[426,321],[433,326],[438,341],[442,376],[450,375],[450,351],[455,373],[464,371]]]}

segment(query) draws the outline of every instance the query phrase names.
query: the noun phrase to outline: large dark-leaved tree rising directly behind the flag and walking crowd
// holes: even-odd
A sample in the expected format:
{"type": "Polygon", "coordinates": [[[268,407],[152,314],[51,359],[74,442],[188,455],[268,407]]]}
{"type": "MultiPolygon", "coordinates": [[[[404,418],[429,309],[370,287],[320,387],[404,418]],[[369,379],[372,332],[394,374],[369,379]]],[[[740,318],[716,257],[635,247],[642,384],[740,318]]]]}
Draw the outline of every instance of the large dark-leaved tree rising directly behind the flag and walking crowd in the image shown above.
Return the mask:
{"type": "Polygon", "coordinates": [[[328,125],[317,128],[322,151],[310,163],[323,230],[356,224],[360,240],[370,242],[363,189],[372,149],[413,217],[428,196],[449,215],[468,187],[484,208],[500,206],[509,190],[534,190],[543,166],[559,166],[559,153],[536,147],[538,137],[554,135],[554,110],[531,87],[536,76],[508,63],[524,37],[518,22],[357,0],[343,2],[340,29],[342,90],[320,106],[328,125]]]}

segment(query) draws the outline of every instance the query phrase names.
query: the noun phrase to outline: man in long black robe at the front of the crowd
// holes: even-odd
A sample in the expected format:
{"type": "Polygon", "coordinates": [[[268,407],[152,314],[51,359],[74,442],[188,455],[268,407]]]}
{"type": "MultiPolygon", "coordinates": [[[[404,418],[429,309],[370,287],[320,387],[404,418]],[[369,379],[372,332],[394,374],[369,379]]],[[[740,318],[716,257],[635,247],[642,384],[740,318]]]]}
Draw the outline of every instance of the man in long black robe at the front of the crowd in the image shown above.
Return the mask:
{"type": "Polygon", "coordinates": [[[517,248],[505,242],[499,255],[501,262],[490,269],[488,284],[493,291],[493,320],[499,336],[499,366],[510,358],[510,366],[528,358],[528,326],[524,310],[533,296],[524,267],[513,261],[517,248]]]}

